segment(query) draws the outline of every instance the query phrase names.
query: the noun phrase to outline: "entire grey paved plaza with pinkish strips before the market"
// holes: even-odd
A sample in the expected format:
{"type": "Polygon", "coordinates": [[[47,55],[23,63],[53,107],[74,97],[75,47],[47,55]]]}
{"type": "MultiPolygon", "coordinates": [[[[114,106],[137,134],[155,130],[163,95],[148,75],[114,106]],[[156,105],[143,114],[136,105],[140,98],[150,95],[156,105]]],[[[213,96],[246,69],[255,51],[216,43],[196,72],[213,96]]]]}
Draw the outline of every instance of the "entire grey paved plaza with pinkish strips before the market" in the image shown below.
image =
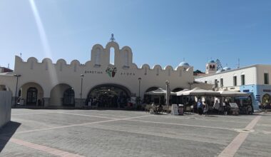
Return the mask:
{"type": "Polygon", "coordinates": [[[12,109],[0,156],[270,156],[271,114],[12,109]]]}

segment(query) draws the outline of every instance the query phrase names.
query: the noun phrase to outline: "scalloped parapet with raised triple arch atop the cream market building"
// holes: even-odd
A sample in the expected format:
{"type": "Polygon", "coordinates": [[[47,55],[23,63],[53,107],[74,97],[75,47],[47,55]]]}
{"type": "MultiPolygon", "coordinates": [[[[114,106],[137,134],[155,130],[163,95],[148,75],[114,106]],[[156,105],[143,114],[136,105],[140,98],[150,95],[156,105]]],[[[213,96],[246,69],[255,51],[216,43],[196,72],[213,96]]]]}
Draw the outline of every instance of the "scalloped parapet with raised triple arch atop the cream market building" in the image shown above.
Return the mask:
{"type": "MultiPolygon", "coordinates": [[[[58,59],[56,63],[53,63],[51,59],[43,59],[41,62],[35,57],[30,57],[27,61],[23,61],[19,56],[15,57],[15,71],[20,69],[19,64],[24,64],[25,67],[29,67],[29,70],[39,69],[39,70],[50,70],[53,68],[55,71],[84,71],[86,69],[96,69],[96,71],[103,71],[105,67],[115,66],[123,71],[141,71],[144,75],[154,74],[156,76],[165,75],[171,76],[175,74],[176,76],[183,76],[184,74],[193,75],[193,66],[190,66],[186,62],[182,62],[173,69],[173,66],[165,66],[162,68],[160,65],[155,65],[152,68],[148,64],[143,64],[138,68],[138,65],[133,63],[133,52],[129,46],[123,46],[120,49],[118,43],[111,41],[106,44],[104,48],[101,44],[96,44],[91,49],[91,60],[86,61],[85,64],[81,64],[78,60],[71,61],[67,64],[64,59],[58,59]],[[110,63],[110,58],[114,55],[114,63],[110,63]],[[102,69],[102,70],[98,70],[102,69]]],[[[24,69],[26,70],[26,69],[24,69]]]]}

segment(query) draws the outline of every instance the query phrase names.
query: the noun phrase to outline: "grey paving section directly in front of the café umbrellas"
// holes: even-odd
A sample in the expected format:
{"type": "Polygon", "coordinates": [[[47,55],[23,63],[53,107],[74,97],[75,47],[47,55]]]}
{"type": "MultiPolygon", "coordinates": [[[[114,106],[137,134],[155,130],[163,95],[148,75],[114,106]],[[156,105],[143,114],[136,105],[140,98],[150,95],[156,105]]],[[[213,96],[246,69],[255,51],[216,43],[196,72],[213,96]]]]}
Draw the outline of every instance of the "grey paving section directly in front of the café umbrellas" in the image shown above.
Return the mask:
{"type": "Polygon", "coordinates": [[[180,123],[195,126],[210,126],[210,127],[221,127],[221,128],[245,128],[247,123],[250,123],[250,119],[239,119],[233,118],[217,118],[217,117],[205,117],[205,116],[170,116],[170,115],[155,115],[150,117],[135,118],[133,120],[143,121],[155,121],[165,123],[180,123]]]}

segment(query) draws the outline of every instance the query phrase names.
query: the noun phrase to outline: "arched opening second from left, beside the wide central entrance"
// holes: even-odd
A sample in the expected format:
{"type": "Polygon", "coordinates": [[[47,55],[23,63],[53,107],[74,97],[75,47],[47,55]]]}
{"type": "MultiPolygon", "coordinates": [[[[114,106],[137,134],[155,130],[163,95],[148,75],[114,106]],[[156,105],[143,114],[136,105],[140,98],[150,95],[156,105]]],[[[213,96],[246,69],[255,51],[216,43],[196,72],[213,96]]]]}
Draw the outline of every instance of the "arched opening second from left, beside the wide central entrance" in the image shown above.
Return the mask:
{"type": "Polygon", "coordinates": [[[54,86],[50,93],[50,105],[75,106],[73,88],[66,83],[54,86]]]}

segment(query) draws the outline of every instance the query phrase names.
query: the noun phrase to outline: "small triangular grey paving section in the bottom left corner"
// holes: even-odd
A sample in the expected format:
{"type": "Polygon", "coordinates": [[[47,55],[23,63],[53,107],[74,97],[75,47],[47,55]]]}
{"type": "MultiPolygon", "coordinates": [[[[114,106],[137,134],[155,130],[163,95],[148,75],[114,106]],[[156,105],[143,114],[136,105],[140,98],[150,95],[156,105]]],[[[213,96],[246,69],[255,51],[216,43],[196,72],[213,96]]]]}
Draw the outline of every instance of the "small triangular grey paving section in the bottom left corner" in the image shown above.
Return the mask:
{"type": "MultiPolygon", "coordinates": [[[[0,145],[3,141],[0,140],[0,145]]],[[[0,152],[0,156],[3,157],[55,157],[49,153],[43,151],[37,151],[26,146],[20,146],[18,144],[9,142],[6,144],[4,149],[0,152]]]]}

